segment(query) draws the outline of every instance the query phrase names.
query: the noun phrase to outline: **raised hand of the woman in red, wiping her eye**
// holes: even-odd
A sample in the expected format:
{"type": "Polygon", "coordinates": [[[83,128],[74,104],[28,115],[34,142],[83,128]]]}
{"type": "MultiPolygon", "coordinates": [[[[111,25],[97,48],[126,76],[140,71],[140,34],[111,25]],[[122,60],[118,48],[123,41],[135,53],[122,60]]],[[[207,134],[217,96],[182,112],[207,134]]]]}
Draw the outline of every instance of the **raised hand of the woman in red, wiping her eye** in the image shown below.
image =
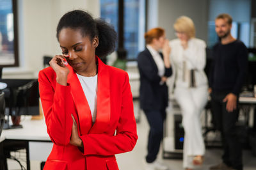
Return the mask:
{"type": "Polygon", "coordinates": [[[49,62],[52,69],[56,72],[56,80],[59,84],[67,86],[68,67],[66,59],[61,55],[56,55],[49,62]]]}

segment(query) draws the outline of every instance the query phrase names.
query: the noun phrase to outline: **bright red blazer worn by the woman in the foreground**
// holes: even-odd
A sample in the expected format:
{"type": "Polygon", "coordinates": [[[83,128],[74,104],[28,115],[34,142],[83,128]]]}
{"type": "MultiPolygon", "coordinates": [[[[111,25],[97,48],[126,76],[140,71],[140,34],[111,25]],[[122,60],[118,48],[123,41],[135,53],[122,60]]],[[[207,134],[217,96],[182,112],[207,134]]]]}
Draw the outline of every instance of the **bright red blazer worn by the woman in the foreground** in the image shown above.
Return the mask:
{"type": "Polygon", "coordinates": [[[104,65],[99,58],[97,118],[92,114],[83,88],[71,66],[68,86],[56,82],[51,67],[38,77],[47,132],[54,143],[44,169],[118,169],[115,154],[131,151],[138,139],[131,87],[126,72],[104,65]],[[72,117],[84,150],[69,144],[72,117]]]}

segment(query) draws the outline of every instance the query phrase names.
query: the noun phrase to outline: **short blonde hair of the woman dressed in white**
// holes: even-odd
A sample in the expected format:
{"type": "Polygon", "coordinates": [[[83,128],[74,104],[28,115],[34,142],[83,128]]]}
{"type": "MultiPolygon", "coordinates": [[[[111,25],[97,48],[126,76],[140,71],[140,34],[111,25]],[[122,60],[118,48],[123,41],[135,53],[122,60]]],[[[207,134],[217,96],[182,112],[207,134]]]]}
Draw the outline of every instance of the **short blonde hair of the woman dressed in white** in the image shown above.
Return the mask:
{"type": "Polygon", "coordinates": [[[189,17],[181,16],[173,24],[175,31],[183,32],[189,38],[195,37],[195,24],[189,17]]]}

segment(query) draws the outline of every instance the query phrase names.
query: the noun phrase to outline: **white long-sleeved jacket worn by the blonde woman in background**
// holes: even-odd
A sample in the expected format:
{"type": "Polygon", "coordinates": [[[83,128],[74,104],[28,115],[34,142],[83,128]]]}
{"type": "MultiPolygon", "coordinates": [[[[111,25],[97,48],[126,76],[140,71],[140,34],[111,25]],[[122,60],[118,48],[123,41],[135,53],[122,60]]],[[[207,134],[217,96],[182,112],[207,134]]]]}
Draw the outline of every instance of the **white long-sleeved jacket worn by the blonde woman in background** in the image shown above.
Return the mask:
{"type": "Polygon", "coordinates": [[[170,41],[172,49],[170,58],[173,68],[173,79],[176,87],[189,87],[189,71],[195,71],[196,87],[207,85],[207,77],[204,73],[206,62],[205,47],[206,44],[203,40],[191,38],[188,41],[188,48],[185,50],[180,40],[177,38],[170,41]]]}

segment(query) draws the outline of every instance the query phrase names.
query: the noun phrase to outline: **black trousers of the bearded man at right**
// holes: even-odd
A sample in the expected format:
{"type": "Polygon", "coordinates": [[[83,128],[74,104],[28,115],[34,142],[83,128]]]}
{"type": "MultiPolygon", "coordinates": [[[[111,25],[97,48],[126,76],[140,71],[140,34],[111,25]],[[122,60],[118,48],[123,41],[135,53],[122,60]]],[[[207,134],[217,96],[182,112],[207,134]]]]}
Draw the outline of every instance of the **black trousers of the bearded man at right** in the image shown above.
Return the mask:
{"type": "Polygon", "coordinates": [[[227,111],[227,102],[223,102],[223,99],[227,96],[227,94],[228,92],[212,91],[211,107],[213,123],[221,132],[224,151],[222,157],[223,162],[234,169],[242,170],[242,148],[241,144],[239,143],[236,130],[236,121],[239,111],[238,109],[232,112],[227,111]]]}

